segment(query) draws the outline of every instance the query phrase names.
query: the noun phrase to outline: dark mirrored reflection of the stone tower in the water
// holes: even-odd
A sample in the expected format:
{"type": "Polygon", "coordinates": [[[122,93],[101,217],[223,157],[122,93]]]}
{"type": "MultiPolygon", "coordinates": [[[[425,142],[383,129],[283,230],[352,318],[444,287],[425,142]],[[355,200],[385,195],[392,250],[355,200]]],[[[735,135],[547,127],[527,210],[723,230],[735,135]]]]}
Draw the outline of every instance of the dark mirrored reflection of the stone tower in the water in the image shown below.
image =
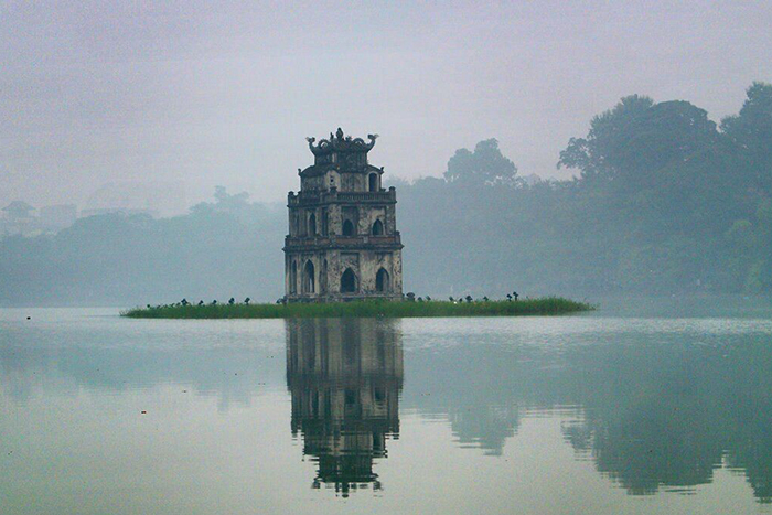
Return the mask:
{"type": "Polygon", "coordinates": [[[403,346],[395,321],[287,321],[287,386],[292,436],[318,464],[322,484],[347,496],[380,489],[373,471],[386,440],[399,437],[403,346]]]}

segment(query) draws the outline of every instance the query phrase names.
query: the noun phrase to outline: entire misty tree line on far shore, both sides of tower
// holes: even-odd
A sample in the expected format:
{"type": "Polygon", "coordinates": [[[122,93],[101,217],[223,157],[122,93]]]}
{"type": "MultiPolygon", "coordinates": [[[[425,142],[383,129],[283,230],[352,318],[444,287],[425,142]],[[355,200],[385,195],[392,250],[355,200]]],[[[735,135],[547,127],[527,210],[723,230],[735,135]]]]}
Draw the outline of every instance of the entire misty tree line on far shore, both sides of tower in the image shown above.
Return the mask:
{"type": "MultiPolygon", "coordinates": [[[[489,139],[441,179],[399,183],[406,291],[772,292],[772,86],[747,95],[718,127],[687,101],[625,97],[560,153],[571,181],[526,184],[489,139]]],[[[175,218],[7,237],[0,304],[279,298],[285,207],[215,199],[175,218]]]]}

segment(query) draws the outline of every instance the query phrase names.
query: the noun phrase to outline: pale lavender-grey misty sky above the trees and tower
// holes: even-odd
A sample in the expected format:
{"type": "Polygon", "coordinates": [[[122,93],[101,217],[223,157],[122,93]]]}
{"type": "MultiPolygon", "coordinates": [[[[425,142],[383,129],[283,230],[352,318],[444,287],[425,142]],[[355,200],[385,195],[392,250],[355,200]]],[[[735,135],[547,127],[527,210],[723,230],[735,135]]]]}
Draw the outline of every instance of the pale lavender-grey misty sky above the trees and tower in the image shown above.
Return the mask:
{"type": "Polygon", "coordinates": [[[622,96],[718,121],[772,81],[772,2],[0,3],[0,204],[107,183],[281,201],[305,136],[377,132],[371,161],[437,175],[495,137],[521,174],[622,96]]]}

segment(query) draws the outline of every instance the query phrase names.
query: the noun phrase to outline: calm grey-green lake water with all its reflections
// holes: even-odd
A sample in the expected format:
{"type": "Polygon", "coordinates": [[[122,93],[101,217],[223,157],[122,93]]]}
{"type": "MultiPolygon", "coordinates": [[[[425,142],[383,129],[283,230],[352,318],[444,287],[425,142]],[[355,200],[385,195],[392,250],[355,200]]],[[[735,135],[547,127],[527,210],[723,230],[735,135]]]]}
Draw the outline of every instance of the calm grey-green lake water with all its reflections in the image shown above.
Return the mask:
{"type": "Polygon", "coordinates": [[[772,513],[772,304],[1,310],[0,466],[2,514],[772,513]]]}

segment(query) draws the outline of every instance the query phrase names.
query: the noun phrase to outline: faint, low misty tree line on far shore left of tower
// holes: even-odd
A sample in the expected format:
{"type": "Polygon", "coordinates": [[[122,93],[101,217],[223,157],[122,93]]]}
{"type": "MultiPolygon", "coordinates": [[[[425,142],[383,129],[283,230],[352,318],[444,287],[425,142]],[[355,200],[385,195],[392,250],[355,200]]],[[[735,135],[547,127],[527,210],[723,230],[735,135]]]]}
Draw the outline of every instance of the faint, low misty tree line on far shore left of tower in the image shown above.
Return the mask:
{"type": "Polygon", "coordinates": [[[250,204],[222,190],[218,196],[185,216],[92,216],[53,237],[0,240],[0,304],[276,299],[285,207],[250,204]]]}

